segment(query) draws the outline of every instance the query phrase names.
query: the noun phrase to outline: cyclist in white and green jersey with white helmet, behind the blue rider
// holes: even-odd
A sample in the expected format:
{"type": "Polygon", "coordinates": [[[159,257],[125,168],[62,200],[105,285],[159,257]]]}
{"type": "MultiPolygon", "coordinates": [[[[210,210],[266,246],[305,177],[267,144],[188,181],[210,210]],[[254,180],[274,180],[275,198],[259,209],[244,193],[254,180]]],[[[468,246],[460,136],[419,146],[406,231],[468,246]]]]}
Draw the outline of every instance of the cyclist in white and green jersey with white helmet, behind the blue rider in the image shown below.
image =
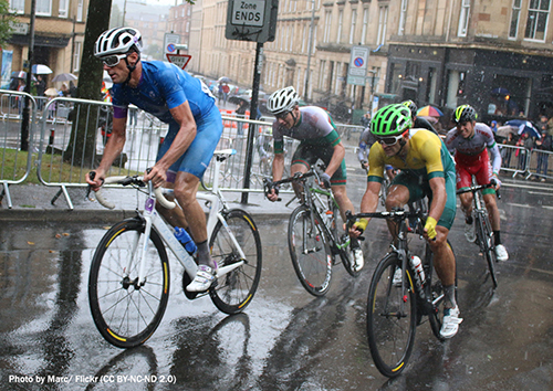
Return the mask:
{"type": "MultiPolygon", "coordinates": [[[[267,102],[267,108],[276,117],[273,123],[274,160],[273,181],[282,179],[284,171],[284,136],[300,140],[292,157],[290,173],[307,172],[317,159],[324,161],[326,169],[321,175],[321,186],[332,189],[342,219],[345,211],[354,211],[346,193],[345,148],[340,139],[330,114],[321,107],[298,105],[300,96],[294,87],[275,91],[267,102]]],[[[294,187],[296,194],[299,189],[294,187]]],[[[271,189],[267,198],[276,201],[279,189],[271,189]]],[[[363,252],[357,239],[351,241],[355,270],[364,265],[363,252]]]]}

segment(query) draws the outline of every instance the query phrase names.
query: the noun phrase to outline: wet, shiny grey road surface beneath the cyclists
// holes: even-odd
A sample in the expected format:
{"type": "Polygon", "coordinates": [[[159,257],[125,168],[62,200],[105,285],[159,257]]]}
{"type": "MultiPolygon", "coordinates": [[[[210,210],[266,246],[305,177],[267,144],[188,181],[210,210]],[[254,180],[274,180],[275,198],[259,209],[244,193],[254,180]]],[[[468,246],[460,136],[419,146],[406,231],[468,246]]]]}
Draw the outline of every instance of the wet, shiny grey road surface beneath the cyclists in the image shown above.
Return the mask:
{"type": "Polygon", "coordinates": [[[497,267],[498,289],[491,290],[477,246],[465,240],[458,211],[451,242],[465,320],[445,344],[421,325],[409,367],[395,380],[374,367],[365,331],[369,278],[389,240],[383,222],[369,224],[361,277],[337,265],[327,295],[314,298],[292,268],[288,221],[257,221],[262,279],[238,316],[217,311],[208,297],[186,299],[181,268],[171,261],[161,325],[147,346],[127,351],[103,340],[88,309],[88,267],[105,229],[2,224],[0,389],[553,389],[553,192],[505,187],[502,196],[510,260],[497,267]]]}

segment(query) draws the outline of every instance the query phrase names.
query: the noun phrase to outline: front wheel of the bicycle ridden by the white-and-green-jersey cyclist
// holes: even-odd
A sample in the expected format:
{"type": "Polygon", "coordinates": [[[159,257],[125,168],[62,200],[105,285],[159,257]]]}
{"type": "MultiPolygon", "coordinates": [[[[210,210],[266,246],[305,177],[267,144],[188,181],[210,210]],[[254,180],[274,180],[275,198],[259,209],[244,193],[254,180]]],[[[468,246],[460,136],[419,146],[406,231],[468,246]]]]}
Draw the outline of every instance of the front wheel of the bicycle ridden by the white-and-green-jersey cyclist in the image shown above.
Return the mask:
{"type": "Polygon", "coordinates": [[[328,290],[332,277],[332,251],[316,216],[312,224],[311,210],[298,207],[290,215],[288,246],[295,274],[313,296],[323,296],[328,290]]]}

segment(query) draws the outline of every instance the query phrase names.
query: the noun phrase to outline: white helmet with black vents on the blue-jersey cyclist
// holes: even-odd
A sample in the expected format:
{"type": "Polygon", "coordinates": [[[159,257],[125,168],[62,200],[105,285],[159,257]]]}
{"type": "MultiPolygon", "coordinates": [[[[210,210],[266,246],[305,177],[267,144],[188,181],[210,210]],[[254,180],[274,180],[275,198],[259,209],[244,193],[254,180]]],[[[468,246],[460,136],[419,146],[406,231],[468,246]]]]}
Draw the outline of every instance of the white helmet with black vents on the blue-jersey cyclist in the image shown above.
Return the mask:
{"type": "Polygon", "coordinates": [[[142,34],[133,28],[115,28],[104,31],[94,44],[94,55],[104,57],[112,54],[126,54],[135,49],[142,52],[142,34]]]}

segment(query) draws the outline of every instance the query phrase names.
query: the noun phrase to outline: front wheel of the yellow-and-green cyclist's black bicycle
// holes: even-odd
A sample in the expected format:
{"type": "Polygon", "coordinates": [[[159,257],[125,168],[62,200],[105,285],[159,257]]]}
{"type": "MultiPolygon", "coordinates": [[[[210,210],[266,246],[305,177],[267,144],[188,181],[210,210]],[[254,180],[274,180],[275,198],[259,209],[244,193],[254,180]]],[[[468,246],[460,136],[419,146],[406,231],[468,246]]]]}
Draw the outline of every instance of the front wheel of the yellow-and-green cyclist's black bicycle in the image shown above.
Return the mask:
{"type": "Polygon", "coordinates": [[[401,286],[394,284],[394,273],[401,268],[396,253],[387,254],[371,281],[367,302],[367,338],[371,356],[378,371],[388,378],[399,376],[407,366],[415,345],[417,303],[411,274],[406,268],[401,286]],[[400,314],[399,306],[405,310],[400,314]]]}

